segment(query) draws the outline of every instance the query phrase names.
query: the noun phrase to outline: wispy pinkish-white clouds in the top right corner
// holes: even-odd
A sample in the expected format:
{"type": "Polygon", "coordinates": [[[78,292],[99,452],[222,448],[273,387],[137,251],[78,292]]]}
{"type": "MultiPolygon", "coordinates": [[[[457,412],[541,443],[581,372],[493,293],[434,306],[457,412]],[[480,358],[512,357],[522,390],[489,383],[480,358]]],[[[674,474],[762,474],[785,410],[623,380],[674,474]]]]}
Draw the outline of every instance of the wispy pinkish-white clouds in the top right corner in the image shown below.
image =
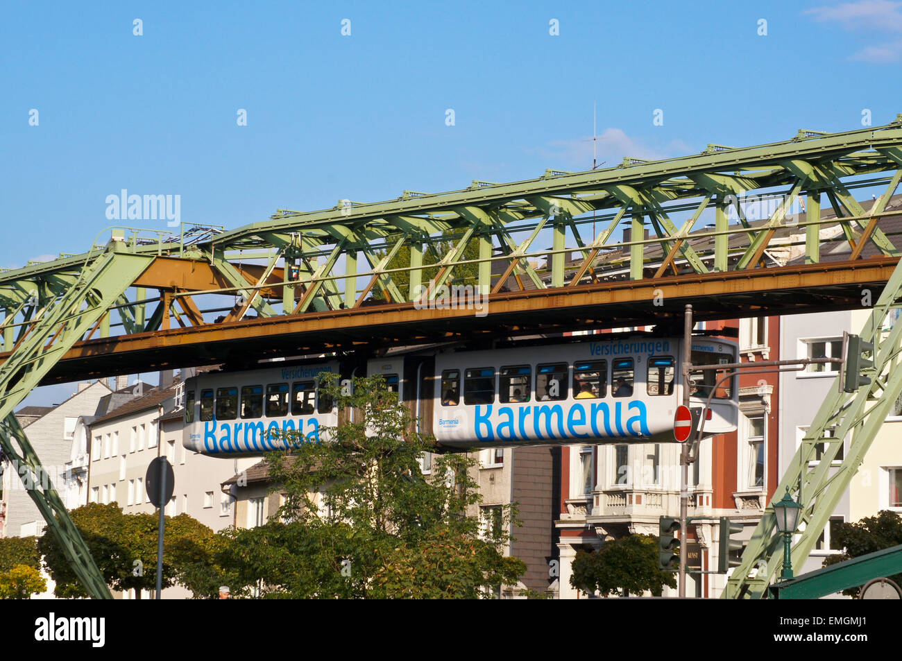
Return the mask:
{"type": "MultiPolygon", "coordinates": [[[[840,23],[843,28],[860,32],[902,32],[902,2],[890,0],[859,0],[842,5],[809,9],[819,23],[840,23]]],[[[850,60],[887,64],[902,58],[902,40],[868,46],[853,53],[850,60]]]]}

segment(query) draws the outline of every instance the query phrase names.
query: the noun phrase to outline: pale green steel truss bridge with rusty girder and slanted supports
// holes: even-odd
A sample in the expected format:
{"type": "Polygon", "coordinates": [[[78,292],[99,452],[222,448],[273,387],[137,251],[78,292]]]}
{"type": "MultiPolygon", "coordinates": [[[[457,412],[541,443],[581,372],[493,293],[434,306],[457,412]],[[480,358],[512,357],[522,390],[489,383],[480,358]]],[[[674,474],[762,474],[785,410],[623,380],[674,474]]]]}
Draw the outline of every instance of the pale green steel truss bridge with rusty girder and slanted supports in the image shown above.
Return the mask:
{"type": "MultiPolygon", "coordinates": [[[[824,401],[778,487],[804,507],[796,563],[902,393],[902,370],[891,369],[902,324],[884,331],[902,295],[902,209],[892,200],[900,179],[902,115],[848,133],[711,144],[665,161],[627,158],[448,193],[280,209],[230,231],[114,227],[110,241],[88,252],[0,272],[0,446],[41,473],[13,413],[41,384],[360,347],[679,325],[687,302],[696,319],[859,308],[869,289],[875,303],[861,336],[876,347],[871,383],[824,401]],[[449,302],[455,287],[470,289],[449,302]],[[466,305],[476,297],[482,315],[466,305]],[[830,475],[847,435],[851,447],[830,475]],[[824,456],[809,468],[816,444],[826,444],[824,456]]],[[[88,592],[109,598],[57,492],[30,494],[88,592]]],[[[781,548],[768,508],[727,596],[765,596],[781,548]]]]}

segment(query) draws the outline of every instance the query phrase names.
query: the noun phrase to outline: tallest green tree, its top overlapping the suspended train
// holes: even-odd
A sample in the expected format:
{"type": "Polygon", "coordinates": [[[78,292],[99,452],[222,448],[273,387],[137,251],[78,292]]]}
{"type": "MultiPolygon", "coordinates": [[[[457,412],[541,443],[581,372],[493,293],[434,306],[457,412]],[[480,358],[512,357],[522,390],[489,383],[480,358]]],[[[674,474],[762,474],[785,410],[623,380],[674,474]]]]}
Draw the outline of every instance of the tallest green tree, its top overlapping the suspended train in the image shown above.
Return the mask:
{"type": "MultiPolygon", "coordinates": [[[[335,379],[326,389],[351,420],[320,428],[318,443],[297,435],[290,454],[268,454],[284,492],[281,520],[226,531],[216,555],[238,596],[269,598],[478,598],[526,570],[505,557],[504,526],[467,516],[480,497],[474,460],[449,454],[420,473],[431,439],[406,434],[410,413],[381,377],[335,379]],[[407,439],[405,440],[405,436],[407,439]],[[498,529],[501,528],[501,529],[498,529]]],[[[505,522],[515,512],[502,510],[505,522]]]]}

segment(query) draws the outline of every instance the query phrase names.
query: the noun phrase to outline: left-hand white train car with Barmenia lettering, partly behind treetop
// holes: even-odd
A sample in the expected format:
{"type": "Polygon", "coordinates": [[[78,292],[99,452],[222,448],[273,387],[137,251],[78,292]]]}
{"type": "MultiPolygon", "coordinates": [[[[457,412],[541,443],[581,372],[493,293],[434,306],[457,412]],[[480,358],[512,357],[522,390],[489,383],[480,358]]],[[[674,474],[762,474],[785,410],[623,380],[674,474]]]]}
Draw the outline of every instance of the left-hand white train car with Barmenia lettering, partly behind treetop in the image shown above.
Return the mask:
{"type": "Polygon", "coordinates": [[[289,449],[289,436],[318,440],[338,411],[319,388],[338,362],[282,365],[242,372],[203,372],[185,382],[183,444],[200,454],[256,455],[289,449]]]}

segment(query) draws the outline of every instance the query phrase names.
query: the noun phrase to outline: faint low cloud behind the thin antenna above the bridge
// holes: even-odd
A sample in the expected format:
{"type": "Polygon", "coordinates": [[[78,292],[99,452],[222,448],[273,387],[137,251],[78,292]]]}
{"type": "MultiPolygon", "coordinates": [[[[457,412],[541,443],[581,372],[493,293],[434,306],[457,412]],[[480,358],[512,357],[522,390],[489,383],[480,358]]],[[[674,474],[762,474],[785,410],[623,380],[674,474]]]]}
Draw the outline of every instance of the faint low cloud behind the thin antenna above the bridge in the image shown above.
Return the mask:
{"type": "MultiPolygon", "coordinates": [[[[673,156],[682,156],[692,149],[679,140],[668,142],[661,147],[654,147],[645,142],[640,142],[624,133],[618,128],[606,128],[598,134],[595,142],[597,161],[604,163],[604,167],[612,167],[629,156],[634,159],[646,161],[658,161],[673,156]]],[[[554,140],[538,149],[538,153],[546,159],[548,165],[569,170],[589,170],[592,167],[593,139],[592,136],[575,138],[572,140],[554,140]]]]}

